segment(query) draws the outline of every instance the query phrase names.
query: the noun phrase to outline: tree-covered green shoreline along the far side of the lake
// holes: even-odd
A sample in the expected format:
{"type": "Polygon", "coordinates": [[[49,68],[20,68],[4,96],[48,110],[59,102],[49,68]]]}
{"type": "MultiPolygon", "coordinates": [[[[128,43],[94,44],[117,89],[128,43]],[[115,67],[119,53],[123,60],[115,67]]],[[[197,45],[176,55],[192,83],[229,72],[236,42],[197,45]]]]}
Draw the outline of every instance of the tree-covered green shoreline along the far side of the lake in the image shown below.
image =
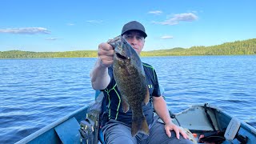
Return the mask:
{"type": "MultiPolygon", "coordinates": [[[[226,42],[216,46],[176,47],[168,50],[142,51],[141,56],[189,56],[189,55],[247,55],[256,54],[256,38],[226,42]]],[[[0,51],[0,58],[95,58],[96,50],[65,52],[32,52],[21,50],[0,51]]]]}

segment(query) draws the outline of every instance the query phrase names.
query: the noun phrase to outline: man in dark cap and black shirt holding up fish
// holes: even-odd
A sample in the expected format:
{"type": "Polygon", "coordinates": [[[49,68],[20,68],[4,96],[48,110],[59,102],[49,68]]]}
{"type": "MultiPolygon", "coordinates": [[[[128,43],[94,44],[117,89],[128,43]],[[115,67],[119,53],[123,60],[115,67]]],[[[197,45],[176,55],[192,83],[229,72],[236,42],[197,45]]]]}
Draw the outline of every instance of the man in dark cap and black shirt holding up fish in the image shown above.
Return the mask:
{"type": "MultiPolygon", "coordinates": [[[[121,35],[138,54],[141,53],[147,37],[146,30],[141,23],[136,21],[126,23],[122,27],[121,35]]],[[[150,127],[150,134],[147,136],[138,133],[132,137],[130,129],[131,111],[124,113],[122,108],[118,106],[120,100],[117,95],[120,93],[115,85],[113,62],[114,48],[107,42],[102,42],[98,46],[98,60],[90,73],[90,78],[94,90],[103,90],[106,98],[106,113],[109,121],[102,127],[106,143],[191,143],[187,139],[186,133],[171,121],[166,102],[160,94],[156,72],[152,66],[144,62],[143,68],[149,85],[150,98],[154,110],[164,124],[154,118],[153,106],[149,102],[143,106],[143,113],[150,127]]]]}

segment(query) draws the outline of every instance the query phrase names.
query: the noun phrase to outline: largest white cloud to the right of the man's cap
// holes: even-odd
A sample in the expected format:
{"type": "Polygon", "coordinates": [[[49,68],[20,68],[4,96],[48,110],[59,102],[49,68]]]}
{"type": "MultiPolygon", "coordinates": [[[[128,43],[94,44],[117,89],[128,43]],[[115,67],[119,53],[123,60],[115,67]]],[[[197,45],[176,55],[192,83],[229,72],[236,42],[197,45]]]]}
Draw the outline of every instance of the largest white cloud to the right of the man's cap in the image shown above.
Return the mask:
{"type": "Polygon", "coordinates": [[[178,25],[179,22],[192,22],[198,19],[198,16],[193,13],[174,14],[172,18],[167,19],[164,22],[153,22],[161,25],[178,25]]]}

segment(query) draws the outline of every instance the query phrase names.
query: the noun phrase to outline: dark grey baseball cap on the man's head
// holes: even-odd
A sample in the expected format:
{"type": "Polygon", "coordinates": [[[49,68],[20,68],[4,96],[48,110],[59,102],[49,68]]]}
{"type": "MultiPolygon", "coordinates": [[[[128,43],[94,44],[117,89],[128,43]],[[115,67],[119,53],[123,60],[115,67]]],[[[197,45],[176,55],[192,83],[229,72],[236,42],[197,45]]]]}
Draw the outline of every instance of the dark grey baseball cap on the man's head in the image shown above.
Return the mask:
{"type": "Polygon", "coordinates": [[[143,37],[146,38],[146,30],[145,30],[145,27],[140,23],[140,22],[137,22],[137,21],[131,21],[131,22],[128,22],[126,23],[123,27],[122,27],[122,34],[125,34],[127,31],[129,30],[139,30],[142,32],[143,34],[143,37]]]}

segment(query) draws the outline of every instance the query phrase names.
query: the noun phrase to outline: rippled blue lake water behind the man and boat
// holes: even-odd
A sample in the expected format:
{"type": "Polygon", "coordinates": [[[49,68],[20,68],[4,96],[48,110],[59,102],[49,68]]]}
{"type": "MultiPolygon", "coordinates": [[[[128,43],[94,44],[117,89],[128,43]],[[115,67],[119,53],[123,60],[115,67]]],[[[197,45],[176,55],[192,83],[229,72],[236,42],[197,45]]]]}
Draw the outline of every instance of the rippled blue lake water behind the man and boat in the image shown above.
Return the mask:
{"type": "MultiPolygon", "coordinates": [[[[94,101],[96,58],[0,59],[0,143],[14,143],[94,101]]],[[[169,108],[209,102],[256,127],[256,56],[142,58],[169,108]]]]}

